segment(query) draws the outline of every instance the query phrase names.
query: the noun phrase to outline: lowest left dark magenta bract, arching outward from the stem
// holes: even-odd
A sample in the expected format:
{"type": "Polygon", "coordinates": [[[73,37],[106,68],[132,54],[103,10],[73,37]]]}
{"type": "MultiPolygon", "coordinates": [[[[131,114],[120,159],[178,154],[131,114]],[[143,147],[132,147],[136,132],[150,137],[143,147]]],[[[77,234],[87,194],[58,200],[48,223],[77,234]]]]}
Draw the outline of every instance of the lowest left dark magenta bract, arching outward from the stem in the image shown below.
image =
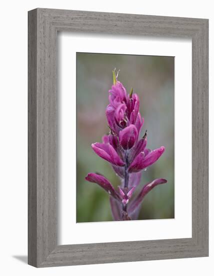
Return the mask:
{"type": "Polygon", "coordinates": [[[85,180],[96,183],[100,187],[102,187],[110,196],[115,198],[116,200],[120,201],[120,197],[117,194],[117,192],[114,190],[113,186],[110,184],[110,182],[102,175],[94,174],[94,173],[89,173],[86,177],[85,180]]]}

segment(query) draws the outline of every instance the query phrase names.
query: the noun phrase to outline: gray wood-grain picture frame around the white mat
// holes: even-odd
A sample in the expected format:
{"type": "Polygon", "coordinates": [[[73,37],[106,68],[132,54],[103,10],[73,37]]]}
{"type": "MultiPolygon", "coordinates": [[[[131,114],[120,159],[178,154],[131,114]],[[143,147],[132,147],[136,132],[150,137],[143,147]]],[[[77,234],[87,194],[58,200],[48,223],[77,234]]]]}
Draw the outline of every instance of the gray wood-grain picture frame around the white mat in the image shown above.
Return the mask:
{"type": "MultiPolygon", "coordinates": [[[[182,129],[180,135],[185,143],[182,129]]],[[[28,263],[45,267],[202,256],[208,256],[208,20],[51,9],[29,11],[28,263]],[[58,31],[191,38],[191,238],[57,245],[58,31]]]]}

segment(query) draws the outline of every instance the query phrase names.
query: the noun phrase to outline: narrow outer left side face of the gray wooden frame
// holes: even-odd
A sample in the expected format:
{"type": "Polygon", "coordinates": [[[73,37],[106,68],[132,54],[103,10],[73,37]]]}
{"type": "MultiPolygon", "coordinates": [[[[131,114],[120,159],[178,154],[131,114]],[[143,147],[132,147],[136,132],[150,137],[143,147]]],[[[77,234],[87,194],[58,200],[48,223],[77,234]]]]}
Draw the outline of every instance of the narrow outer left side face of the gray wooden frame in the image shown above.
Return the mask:
{"type": "Polygon", "coordinates": [[[37,263],[37,13],[28,16],[28,263],[37,263]]]}

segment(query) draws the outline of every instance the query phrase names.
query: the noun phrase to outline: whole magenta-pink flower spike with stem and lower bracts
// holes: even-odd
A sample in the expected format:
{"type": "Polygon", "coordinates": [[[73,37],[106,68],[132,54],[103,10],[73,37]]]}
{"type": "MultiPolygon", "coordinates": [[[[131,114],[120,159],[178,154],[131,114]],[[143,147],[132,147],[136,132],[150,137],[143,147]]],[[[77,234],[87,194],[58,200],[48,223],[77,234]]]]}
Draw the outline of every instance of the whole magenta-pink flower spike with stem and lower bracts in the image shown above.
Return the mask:
{"type": "Polygon", "coordinates": [[[102,175],[88,174],[85,179],[98,184],[110,197],[110,206],[114,220],[136,219],[144,196],[156,185],[164,184],[165,179],[155,179],[146,184],[132,200],[135,188],[139,185],[141,171],[154,164],[164,153],[162,146],[150,151],[146,148],[147,133],[139,139],[144,119],[139,112],[139,98],[126,93],[113,70],[113,85],[109,92],[109,104],[106,107],[106,118],[110,129],[102,137],[102,143],[91,145],[93,151],[108,161],[114,172],[120,177],[121,184],[114,188],[102,175]]]}

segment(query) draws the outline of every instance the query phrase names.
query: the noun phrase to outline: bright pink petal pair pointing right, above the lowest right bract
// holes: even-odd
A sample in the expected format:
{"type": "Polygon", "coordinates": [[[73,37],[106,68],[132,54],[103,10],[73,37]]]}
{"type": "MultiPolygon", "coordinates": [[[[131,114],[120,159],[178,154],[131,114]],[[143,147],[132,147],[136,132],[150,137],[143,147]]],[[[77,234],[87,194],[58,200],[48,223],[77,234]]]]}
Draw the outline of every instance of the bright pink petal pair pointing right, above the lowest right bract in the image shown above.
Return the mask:
{"type": "Polygon", "coordinates": [[[164,150],[164,147],[160,147],[156,150],[151,151],[146,156],[144,152],[140,153],[131,163],[129,167],[129,172],[139,172],[140,170],[152,165],[160,158],[160,156],[164,153],[164,150]]]}

